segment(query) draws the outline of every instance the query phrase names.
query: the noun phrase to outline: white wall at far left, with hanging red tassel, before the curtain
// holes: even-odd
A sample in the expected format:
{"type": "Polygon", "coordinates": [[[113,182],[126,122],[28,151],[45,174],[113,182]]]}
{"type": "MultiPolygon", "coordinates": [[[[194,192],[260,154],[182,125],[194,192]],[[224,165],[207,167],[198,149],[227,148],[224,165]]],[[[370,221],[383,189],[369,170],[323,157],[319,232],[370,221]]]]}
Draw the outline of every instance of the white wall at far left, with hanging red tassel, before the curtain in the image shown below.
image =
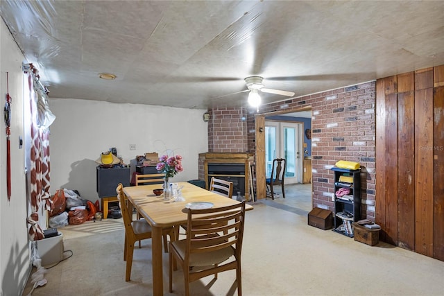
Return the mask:
{"type": "MultiPolygon", "coordinates": [[[[24,174],[24,148],[19,149],[19,136],[24,137],[23,89],[24,56],[12,40],[8,28],[0,21],[0,89],[1,109],[5,103],[7,87],[6,72],[9,76],[9,94],[12,97],[12,121],[10,135],[11,191],[10,201],[6,191],[6,125],[0,120],[0,295],[22,295],[22,290],[31,270],[29,256],[28,202],[26,198],[26,177],[24,174]]],[[[26,121],[26,123],[24,123],[26,121]]]]}

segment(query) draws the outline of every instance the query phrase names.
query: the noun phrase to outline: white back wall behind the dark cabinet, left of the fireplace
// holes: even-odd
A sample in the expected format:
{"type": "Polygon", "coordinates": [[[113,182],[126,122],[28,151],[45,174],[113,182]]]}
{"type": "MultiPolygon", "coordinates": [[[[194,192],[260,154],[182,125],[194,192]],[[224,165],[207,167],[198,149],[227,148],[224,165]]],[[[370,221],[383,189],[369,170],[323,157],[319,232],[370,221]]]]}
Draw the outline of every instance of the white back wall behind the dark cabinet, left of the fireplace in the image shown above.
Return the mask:
{"type": "Polygon", "coordinates": [[[99,199],[95,160],[111,147],[126,164],[137,155],[172,149],[182,155],[184,167],[173,182],[198,178],[198,153],[208,149],[202,119],[206,110],[65,98],[50,98],[49,106],[57,117],[49,139],[51,194],[67,188],[92,202],[99,199]],[[130,150],[130,144],[136,150],[130,150]]]}

